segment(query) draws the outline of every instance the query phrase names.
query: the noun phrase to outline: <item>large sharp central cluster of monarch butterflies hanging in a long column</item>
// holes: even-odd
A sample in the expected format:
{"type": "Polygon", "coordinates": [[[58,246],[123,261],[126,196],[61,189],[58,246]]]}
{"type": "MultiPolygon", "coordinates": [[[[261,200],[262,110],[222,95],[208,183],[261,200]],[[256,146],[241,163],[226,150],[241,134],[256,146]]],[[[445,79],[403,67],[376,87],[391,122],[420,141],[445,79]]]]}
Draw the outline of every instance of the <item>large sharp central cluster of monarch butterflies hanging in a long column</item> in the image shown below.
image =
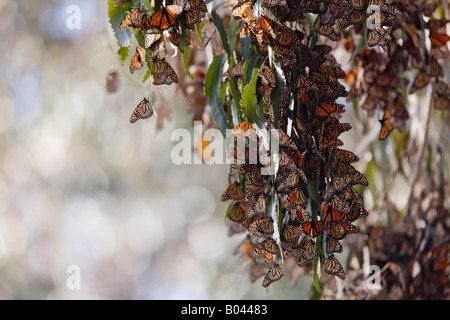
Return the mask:
{"type": "MultiPolygon", "coordinates": [[[[317,258],[322,271],[344,279],[344,267],[335,254],[342,252],[341,242],[348,234],[358,232],[354,222],[368,214],[354,188],[367,186],[368,180],[352,165],[358,157],[342,149],[339,139],[351,129],[340,122],[344,105],[336,103],[348,93],[339,82],[345,72],[330,46],[311,45],[311,34],[292,28],[305,18],[299,7],[303,12],[329,11],[322,11],[316,1],[263,0],[257,6],[254,1],[241,1],[232,14],[243,21],[240,36],[250,36],[261,56],[270,55],[271,48],[272,60],[263,59],[258,69],[257,98],[264,106],[264,129],[278,129],[279,150],[277,161],[255,138],[260,125],[244,120],[233,130],[235,139],[245,143],[235,143],[228,152],[235,162],[222,201],[231,201],[227,218],[232,233],[246,232],[235,252],[251,264],[252,281],[263,277],[263,287],[283,277],[288,258],[297,259],[300,267],[317,258]],[[285,79],[282,97],[275,97],[272,93],[281,78],[285,79]],[[255,145],[257,163],[251,161],[251,150],[245,149],[255,145]],[[277,172],[262,174],[271,161],[278,165],[277,172]]],[[[243,81],[244,65],[240,61],[226,70],[224,81],[243,81]]]]}

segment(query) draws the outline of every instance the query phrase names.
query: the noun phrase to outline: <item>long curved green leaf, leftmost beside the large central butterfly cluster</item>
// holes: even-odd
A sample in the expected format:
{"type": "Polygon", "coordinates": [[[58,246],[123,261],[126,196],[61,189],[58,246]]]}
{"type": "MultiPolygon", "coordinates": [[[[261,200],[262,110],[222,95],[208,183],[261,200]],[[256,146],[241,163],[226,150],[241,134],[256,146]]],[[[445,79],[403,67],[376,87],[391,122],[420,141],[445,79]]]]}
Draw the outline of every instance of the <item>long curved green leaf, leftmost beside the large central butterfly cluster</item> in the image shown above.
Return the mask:
{"type": "Polygon", "coordinates": [[[225,56],[220,54],[213,58],[211,65],[206,72],[205,94],[209,98],[211,114],[217,125],[217,128],[226,137],[226,129],[231,129],[232,125],[228,122],[227,115],[223,109],[223,101],[220,97],[220,87],[222,80],[222,68],[225,62],[225,56]]]}

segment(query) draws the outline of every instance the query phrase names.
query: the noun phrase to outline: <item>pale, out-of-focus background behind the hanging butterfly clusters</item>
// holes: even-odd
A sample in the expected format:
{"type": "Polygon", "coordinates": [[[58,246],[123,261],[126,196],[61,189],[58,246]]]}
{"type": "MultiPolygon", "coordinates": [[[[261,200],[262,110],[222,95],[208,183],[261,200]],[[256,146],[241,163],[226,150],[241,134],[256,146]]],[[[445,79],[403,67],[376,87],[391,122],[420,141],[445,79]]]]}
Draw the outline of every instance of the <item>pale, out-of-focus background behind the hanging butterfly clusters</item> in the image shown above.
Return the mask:
{"type": "MultiPolygon", "coordinates": [[[[0,28],[1,299],[311,297],[311,275],[300,269],[269,289],[249,281],[233,254],[243,238],[229,237],[220,201],[227,165],[172,164],[172,131],[194,130],[185,94],[199,90],[182,78],[179,55],[171,61],[184,84],[154,88],[164,122],[131,125],[149,88],[145,71],[131,76],[130,57],[122,66],[117,56],[106,1],[0,0],[0,28]],[[73,4],[81,28],[70,30],[73,4]],[[108,93],[112,71],[118,88],[108,93]],[[80,290],[66,286],[70,265],[81,268],[80,290]]],[[[342,45],[334,52],[349,60],[342,45]]],[[[447,83],[448,71],[447,63],[447,83]]],[[[345,101],[342,121],[353,129],[342,140],[369,178],[359,191],[370,213],[346,238],[348,277],[329,279],[330,298],[418,297],[442,285],[440,298],[449,297],[450,119],[429,112],[430,94],[408,100],[408,128],[383,142],[377,119],[345,101]],[[382,268],[382,290],[363,286],[363,263],[382,268]],[[433,278],[436,263],[447,278],[433,278]]]]}

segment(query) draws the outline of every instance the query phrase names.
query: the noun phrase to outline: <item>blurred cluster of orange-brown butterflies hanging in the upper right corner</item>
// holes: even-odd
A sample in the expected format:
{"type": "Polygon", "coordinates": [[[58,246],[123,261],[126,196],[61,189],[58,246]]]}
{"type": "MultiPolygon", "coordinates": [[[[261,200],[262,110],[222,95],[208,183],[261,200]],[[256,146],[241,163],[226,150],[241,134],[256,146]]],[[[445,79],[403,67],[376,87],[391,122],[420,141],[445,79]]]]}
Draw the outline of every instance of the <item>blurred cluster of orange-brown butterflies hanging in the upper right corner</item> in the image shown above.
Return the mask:
{"type": "MultiPolygon", "coordinates": [[[[370,3],[371,1],[369,1],[370,3]]],[[[408,94],[414,94],[433,85],[431,99],[438,110],[450,109],[450,86],[444,80],[443,65],[449,59],[447,42],[450,35],[446,26],[450,22],[442,18],[437,8],[439,1],[396,0],[401,19],[390,19],[389,11],[383,11],[392,28],[386,34],[391,41],[385,49],[388,54],[363,50],[354,59],[349,73],[352,85],[349,98],[366,94],[361,106],[369,115],[382,114],[379,138],[386,139],[394,128],[403,130],[409,119],[408,94]],[[398,30],[401,30],[399,32],[398,30]],[[412,81],[408,71],[412,70],[412,81]],[[363,72],[361,72],[363,71],[363,72]],[[359,77],[357,76],[359,74],[359,77]]],[[[382,20],[384,21],[384,20],[382,20]]],[[[351,46],[349,51],[354,50],[351,46]]]]}

